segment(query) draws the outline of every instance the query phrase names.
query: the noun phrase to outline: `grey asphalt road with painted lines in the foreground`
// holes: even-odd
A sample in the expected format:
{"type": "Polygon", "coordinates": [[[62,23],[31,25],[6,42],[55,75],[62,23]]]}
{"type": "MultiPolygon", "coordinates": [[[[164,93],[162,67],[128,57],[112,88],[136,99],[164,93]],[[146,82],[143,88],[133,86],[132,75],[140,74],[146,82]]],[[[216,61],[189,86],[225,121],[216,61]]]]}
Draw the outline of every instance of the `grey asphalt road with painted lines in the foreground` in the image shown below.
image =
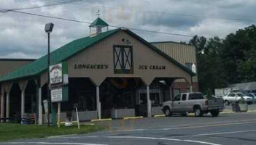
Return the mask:
{"type": "Polygon", "coordinates": [[[3,144],[74,145],[236,145],[256,144],[256,113],[219,117],[152,117],[98,122],[109,130],[85,135],[55,136],[3,144]]]}

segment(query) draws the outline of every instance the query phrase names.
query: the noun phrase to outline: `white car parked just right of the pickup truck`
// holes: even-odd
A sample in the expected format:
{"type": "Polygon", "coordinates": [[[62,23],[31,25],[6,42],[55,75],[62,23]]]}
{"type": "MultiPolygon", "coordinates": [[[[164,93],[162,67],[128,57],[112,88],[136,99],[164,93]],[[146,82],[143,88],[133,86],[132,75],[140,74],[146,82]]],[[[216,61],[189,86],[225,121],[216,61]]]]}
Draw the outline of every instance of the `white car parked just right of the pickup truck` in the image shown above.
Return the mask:
{"type": "Polygon", "coordinates": [[[226,105],[234,104],[241,99],[244,99],[244,101],[246,101],[247,104],[252,104],[252,101],[253,101],[252,97],[246,96],[242,93],[229,93],[229,94],[223,96],[223,100],[226,105]]]}

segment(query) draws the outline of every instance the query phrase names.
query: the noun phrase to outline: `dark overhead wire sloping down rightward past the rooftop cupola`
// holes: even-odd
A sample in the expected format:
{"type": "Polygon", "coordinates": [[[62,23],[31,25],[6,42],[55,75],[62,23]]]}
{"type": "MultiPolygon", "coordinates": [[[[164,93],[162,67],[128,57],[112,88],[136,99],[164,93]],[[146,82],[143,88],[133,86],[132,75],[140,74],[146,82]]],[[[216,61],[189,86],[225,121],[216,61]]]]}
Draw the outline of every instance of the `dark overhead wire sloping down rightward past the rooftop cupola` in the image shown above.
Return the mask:
{"type": "MultiPolygon", "coordinates": [[[[49,16],[49,15],[43,15],[43,14],[34,14],[34,13],[31,13],[31,12],[21,12],[21,11],[17,11],[17,10],[9,10],[8,12],[15,12],[15,13],[20,13],[20,14],[29,14],[29,15],[34,15],[34,16],[38,16],[38,17],[47,17],[47,18],[52,18],[52,19],[57,19],[57,20],[66,20],[66,21],[71,21],[71,22],[80,22],[80,23],[85,23],[85,24],[91,24],[91,22],[85,22],[85,21],[82,21],[82,20],[72,20],[72,19],[63,18],[63,17],[54,17],[54,16],[49,16]]],[[[3,12],[3,13],[6,13],[6,12],[3,12]]],[[[122,28],[122,27],[117,26],[117,25],[109,25],[109,27],[122,28]]],[[[155,30],[143,30],[143,29],[139,29],[139,28],[128,28],[128,29],[130,29],[130,30],[139,30],[139,31],[144,31],[144,32],[149,32],[149,33],[159,33],[159,34],[170,35],[170,36],[183,36],[183,37],[193,37],[193,36],[195,36],[195,35],[189,35],[189,34],[160,32],[160,31],[155,31],[155,30]]]]}

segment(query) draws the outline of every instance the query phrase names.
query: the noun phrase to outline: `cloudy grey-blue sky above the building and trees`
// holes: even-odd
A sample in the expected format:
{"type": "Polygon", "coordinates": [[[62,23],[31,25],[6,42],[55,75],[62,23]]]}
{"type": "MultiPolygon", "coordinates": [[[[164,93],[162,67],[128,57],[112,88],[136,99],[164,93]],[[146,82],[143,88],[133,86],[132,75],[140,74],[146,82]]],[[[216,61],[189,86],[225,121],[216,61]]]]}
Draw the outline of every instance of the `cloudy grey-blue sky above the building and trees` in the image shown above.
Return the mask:
{"type": "Polygon", "coordinates": [[[255,7],[255,0],[0,0],[0,58],[37,59],[47,54],[44,25],[48,22],[55,24],[50,34],[51,51],[89,36],[88,26],[98,17],[98,10],[109,25],[139,29],[132,31],[146,41],[188,42],[195,35],[225,38],[255,24],[255,7]],[[63,1],[71,3],[60,4],[63,1]],[[49,4],[55,5],[20,9],[49,4]],[[3,12],[6,9],[82,22],[3,12]]]}

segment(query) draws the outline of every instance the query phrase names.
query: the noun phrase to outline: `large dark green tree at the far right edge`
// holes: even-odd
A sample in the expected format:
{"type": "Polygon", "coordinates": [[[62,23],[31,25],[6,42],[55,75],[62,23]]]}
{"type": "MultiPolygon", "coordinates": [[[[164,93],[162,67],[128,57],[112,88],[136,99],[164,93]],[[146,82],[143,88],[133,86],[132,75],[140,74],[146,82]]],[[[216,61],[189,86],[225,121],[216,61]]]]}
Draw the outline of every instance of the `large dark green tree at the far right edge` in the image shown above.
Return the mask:
{"type": "Polygon", "coordinates": [[[228,83],[255,81],[256,27],[251,25],[230,33],[220,51],[228,83]]]}

